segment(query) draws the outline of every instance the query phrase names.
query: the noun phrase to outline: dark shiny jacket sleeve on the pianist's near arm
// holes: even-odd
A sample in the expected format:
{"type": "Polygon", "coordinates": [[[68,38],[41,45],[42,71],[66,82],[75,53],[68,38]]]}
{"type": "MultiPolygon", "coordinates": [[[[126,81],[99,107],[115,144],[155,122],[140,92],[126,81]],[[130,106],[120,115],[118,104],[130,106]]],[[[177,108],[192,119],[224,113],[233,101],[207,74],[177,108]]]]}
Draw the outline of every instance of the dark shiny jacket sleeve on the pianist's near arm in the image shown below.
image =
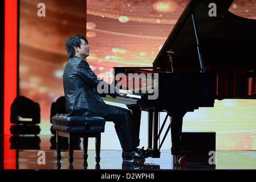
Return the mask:
{"type": "Polygon", "coordinates": [[[77,72],[79,77],[86,82],[88,85],[93,86],[94,88],[97,88],[97,85],[103,81],[104,85],[107,85],[108,90],[115,90],[115,93],[103,93],[100,94],[101,96],[105,96],[105,94],[108,94],[109,96],[115,98],[117,96],[118,90],[116,92],[115,86],[113,85],[109,85],[107,82],[105,82],[104,80],[100,80],[100,78],[97,78],[97,76],[95,75],[95,73],[91,70],[89,64],[86,61],[81,61],[78,64],[78,68],[77,68],[77,72]]]}

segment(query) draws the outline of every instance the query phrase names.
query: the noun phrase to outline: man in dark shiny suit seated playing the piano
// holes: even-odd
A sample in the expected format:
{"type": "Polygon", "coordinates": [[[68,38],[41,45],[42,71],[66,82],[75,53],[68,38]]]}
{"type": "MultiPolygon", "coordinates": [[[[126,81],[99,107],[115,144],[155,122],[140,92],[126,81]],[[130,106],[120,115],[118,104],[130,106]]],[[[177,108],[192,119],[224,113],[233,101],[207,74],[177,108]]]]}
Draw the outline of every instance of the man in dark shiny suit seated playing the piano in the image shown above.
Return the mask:
{"type": "MultiPolygon", "coordinates": [[[[123,148],[123,160],[146,158],[144,150],[137,148],[139,138],[133,134],[132,114],[128,109],[107,105],[97,92],[99,80],[85,60],[89,56],[90,46],[83,35],[74,35],[67,39],[66,49],[70,60],[64,68],[63,86],[66,97],[66,109],[69,115],[99,116],[115,123],[115,130],[123,148]]],[[[104,82],[109,88],[107,82],[104,82]]],[[[113,89],[113,88],[111,88],[113,89]]],[[[111,90],[108,89],[108,90],[111,90]]],[[[129,94],[131,91],[114,89],[107,93],[111,97],[129,94]]]]}

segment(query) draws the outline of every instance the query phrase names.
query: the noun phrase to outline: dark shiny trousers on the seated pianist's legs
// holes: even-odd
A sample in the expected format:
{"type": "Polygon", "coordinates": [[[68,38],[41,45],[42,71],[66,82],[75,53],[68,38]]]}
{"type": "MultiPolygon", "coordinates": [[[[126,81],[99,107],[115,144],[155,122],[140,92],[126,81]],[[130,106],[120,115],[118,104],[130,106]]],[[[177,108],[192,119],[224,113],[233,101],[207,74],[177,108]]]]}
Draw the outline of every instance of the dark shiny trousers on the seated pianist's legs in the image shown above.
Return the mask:
{"type": "Polygon", "coordinates": [[[140,140],[134,134],[131,111],[113,105],[108,105],[108,110],[108,114],[104,118],[106,121],[115,123],[116,134],[123,151],[135,150],[139,146],[140,140]]]}

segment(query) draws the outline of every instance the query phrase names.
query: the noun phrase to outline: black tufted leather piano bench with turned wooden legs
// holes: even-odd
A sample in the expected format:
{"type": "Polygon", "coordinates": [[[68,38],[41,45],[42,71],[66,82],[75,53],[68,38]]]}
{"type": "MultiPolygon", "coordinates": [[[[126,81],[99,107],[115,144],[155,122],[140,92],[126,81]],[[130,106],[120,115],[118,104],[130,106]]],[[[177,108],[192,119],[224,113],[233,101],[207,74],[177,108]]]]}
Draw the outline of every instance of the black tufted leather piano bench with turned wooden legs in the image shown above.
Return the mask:
{"type": "Polygon", "coordinates": [[[56,131],[57,162],[60,164],[61,138],[68,138],[69,163],[72,165],[74,158],[74,144],[72,138],[83,138],[84,164],[87,164],[88,137],[95,137],[96,163],[100,162],[100,138],[105,130],[105,119],[100,117],[68,116],[56,114],[52,117],[52,130],[56,131]]]}

